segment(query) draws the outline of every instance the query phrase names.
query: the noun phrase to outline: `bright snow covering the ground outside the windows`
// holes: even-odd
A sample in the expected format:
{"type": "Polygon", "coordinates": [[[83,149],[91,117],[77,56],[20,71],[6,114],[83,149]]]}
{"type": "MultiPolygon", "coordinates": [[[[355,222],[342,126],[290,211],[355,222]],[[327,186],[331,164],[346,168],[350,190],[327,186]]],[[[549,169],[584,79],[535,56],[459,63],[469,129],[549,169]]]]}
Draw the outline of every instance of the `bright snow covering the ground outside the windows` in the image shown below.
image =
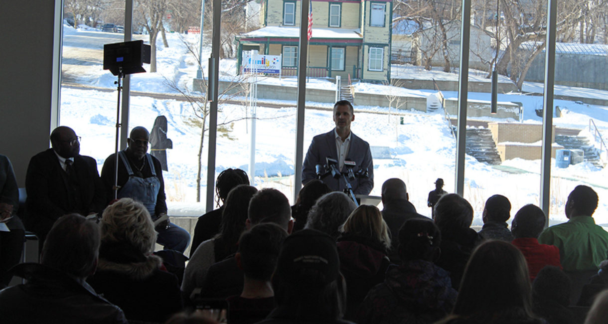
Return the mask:
{"type": "MultiPolygon", "coordinates": [[[[73,30],[73,29],[72,29],[73,30]]],[[[74,31],[71,33],[78,33],[74,31]]],[[[170,86],[174,82],[181,87],[191,87],[192,78],[196,75],[196,61],[188,53],[182,38],[195,43],[198,36],[184,38],[177,34],[168,34],[170,47],[162,47],[159,40],[157,47],[158,72],[136,74],[131,77],[131,90],[143,92],[176,93],[170,86]]],[[[147,38],[145,38],[147,40],[147,38]]],[[[77,49],[73,49],[77,50],[77,49]]],[[[64,50],[64,52],[66,52],[64,50]]],[[[209,56],[205,49],[204,58],[209,56]]],[[[207,60],[203,60],[206,68],[207,60]]],[[[221,78],[230,78],[236,72],[235,60],[221,62],[221,78]]],[[[146,67],[146,66],[145,66],[146,67]]],[[[417,71],[418,67],[403,67],[417,71]]],[[[65,72],[65,71],[64,71],[65,72]]],[[[100,64],[69,66],[71,81],[89,86],[114,88],[115,78],[101,69],[100,64]]],[[[436,80],[457,78],[456,74],[444,74],[440,71],[420,71],[420,77],[432,75],[436,80]]],[[[475,74],[475,72],[474,72],[475,74]]],[[[482,75],[477,75],[482,79],[482,75]]],[[[295,86],[295,78],[264,78],[264,83],[295,86]]],[[[327,88],[327,80],[313,80],[307,88],[327,88]]],[[[527,84],[525,91],[539,92],[536,84],[527,84]]],[[[542,92],[542,85],[541,85],[542,92]]],[[[386,93],[388,86],[359,83],[356,91],[386,93]]],[[[394,90],[393,90],[394,91],[394,90]]],[[[409,90],[398,88],[404,95],[426,96],[431,90],[409,90]]],[[[589,89],[556,88],[558,92],[576,93],[580,96],[595,97],[600,91],[589,89]]],[[[457,98],[456,92],[444,92],[446,98],[457,98]]],[[[608,95],[607,95],[608,97],[608,95]]],[[[489,100],[489,94],[469,93],[474,100],[489,100]]],[[[499,94],[499,102],[522,102],[524,107],[523,122],[541,123],[534,109],[542,108],[542,97],[521,94],[499,94]]],[[[295,102],[285,102],[294,105],[295,102]]],[[[308,106],[324,106],[325,103],[307,103],[308,106]]],[[[554,125],[567,128],[584,129],[589,125],[589,118],[595,120],[598,128],[607,133],[608,108],[556,100],[555,105],[562,109],[562,117],[554,119],[554,125]]],[[[232,120],[246,117],[250,112],[244,105],[222,105],[219,120],[232,120]]],[[[353,132],[367,140],[370,145],[389,146],[394,159],[375,160],[375,188],[371,195],[380,195],[380,188],[385,179],[398,177],[408,185],[410,200],[423,215],[430,215],[426,207],[426,196],[437,178],[446,182],[446,190],[454,190],[455,174],[455,140],[451,136],[442,113],[422,113],[418,111],[399,111],[395,115],[387,114],[389,108],[379,106],[358,106],[362,112],[356,114],[352,124],[353,132]],[[404,125],[399,125],[399,117],[404,117],[404,125]]],[[[196,173],[200,129],[189,121],[193,117],[192,107],[181,100],[157,99],[153,97],[131,97],[130,125],[146,126],[148,129],[158,115],[168,119],[168,137],[173,140],[173,150],[168,150],[169,171],[165,176],[165,190],[170,200],[169,207],[173,215],[200,215],[204,204],[196,201],[196,173]]],[[[294,144],[295,144],[295,108],[262,108],[257,110],[257,132],[255,145],[256,185],[258,187],[276,187],[292,199],[294,144]]],[[[114,134],[116,123],[116,93],[88,89],[63,87],[61,91],[61,124],[75,129],[82,136],[81,154],[97,159],[101,170],[105,158],[114,151],[114,134]]],[[[484,120],[505,120],[485,117],[484,120]]],[[[218,137],[216,153],[216,174],[224,168],[240,167],[247,170],[249,163],[250,125],[246,120],[233,122],[229,137],[218,137]]],[[[333,128],[330,111],[307,110],[305,120],[305,150],[312,137],[325,133],[333,128]]],[[[582,133],[587,134],[587,133],[582,133]]],[[[607,133],[608,134],[608,133],[607,133]]],[[[207,164],[207,143],[203,149],[203,170],[205,176],[207,164]]],[[[604,153],[605,154],[605,153],[604,153]]],[[[466,157],[465,198],[475,209],[474,224],[481,224],[481,213],[485,199],[494,194],[507,196],[513,204],[512,215],[525,204],[539,203],[540,160],[529,161],[514,159],[505,161],[505,167],[512,172],[497,170],[490,165],[466,157]]],[[[554,165],[554,162],[553,162],[554,165]]],[[[568,193],[578,184],[591,185],[598,192],[599,207],[595,213],[598,224],[608,223],[608,171],[588,163],[571,165],[566,169],[552,168],[551,176],[551,223],[565,221],[563,213],[568,193]]],[[[206,183],[205,179],[202,181],[206,183]]],[[[201,188],[202,197],[206,187],[201,188]]]]}

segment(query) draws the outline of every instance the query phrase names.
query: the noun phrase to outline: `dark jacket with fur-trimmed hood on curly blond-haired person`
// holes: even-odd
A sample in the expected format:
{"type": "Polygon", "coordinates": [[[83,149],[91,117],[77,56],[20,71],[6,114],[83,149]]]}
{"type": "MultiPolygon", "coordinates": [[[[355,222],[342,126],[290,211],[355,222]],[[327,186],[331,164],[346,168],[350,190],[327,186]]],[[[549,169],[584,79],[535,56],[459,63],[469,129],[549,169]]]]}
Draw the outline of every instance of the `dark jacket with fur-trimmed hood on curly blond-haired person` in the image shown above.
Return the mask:
{"type": "Polygon", "coordinates": [[[97,272],[88,281],[128,320],[164,322],[183,305],[178,278],[162,271],[161,264],[160,257],[143,255],[129,244],[103,243],[97,272]]]}

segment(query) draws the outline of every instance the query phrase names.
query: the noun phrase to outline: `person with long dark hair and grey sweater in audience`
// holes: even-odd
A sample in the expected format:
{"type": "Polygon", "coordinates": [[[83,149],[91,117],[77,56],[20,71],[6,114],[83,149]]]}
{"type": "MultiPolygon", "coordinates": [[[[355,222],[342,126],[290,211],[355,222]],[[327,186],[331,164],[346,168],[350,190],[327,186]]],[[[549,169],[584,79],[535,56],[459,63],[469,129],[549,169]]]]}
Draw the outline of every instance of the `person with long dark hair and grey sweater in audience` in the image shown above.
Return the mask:
{"type": "Polygon", "coordinates": [[[237,185],[230,190],[218,235],[201,243],[186,266],[182,281],[184,296],[191,297],[195,288],[202,287],[207,271],[213,263],[237,252],[238,238],[245,230],[249,201],[257,192],[258,190],[250,185],[237,185]]]}

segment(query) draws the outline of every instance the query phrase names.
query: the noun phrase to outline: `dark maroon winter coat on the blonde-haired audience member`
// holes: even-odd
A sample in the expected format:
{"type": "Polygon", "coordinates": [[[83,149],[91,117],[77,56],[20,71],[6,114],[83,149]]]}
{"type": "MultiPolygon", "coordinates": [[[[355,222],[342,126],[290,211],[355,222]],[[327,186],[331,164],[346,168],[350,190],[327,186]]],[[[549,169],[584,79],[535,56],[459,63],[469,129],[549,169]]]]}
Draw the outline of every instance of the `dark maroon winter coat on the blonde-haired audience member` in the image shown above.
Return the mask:
{"type": "Polygon", "coordinates": [[[381,244],[362,236],[346,233],[337,240],[337,247],[340,272],[347,286],[347,312],[344,318],[351,320],[367,292],[384,281],[390,261],[381,244]]]}

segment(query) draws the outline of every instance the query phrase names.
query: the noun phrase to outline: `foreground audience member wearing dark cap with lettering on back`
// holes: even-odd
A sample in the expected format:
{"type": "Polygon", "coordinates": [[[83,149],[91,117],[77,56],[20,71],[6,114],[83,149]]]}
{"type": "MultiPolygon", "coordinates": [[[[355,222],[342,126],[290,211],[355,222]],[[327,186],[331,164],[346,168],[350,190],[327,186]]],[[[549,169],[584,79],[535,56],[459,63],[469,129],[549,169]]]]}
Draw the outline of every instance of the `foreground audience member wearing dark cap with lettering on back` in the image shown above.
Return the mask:
{"type": "Polygon", "coordinates": [[[288,236],[272,281],[277,308],[259,323],[351,323],[341,319],[345,283],[333,237],[313,229],[288,236]]]}

